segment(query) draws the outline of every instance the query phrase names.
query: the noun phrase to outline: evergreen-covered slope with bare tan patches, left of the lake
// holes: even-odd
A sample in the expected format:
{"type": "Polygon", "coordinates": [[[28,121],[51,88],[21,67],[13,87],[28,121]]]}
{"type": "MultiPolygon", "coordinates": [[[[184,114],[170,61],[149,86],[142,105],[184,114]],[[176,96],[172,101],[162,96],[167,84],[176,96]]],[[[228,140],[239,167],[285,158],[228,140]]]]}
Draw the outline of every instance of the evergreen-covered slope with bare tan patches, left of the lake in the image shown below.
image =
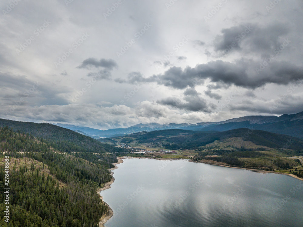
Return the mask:
{"type": "MultiPolygon", "coordinates": [[[[43,134],[41,130],[39,132],[43,134]]],[[[105,153],[106,148],[102,154],[91,153],[96,146],[101,151],[103,144],[87,138],[83,138],[82,145],[78,144],[83,152],[71,150],[64,153],[66,150],[61,146],[58,150],[54,149],[52,133],[46,132],[48,136],[45,139],[41,139],[41,136],[38,139],[8,127],[0,128],[0,186],[2,190],[5,187],[3,160],[7,155],[10,159],[11,188],[10,222],[9,225],[4,222],[2,215],[0,226],[96,227],[100,217],[107,211],[96,190],[111,180],[108,168],[117,161],[116,154],[105,153]],[[89,141],[88,146],[92,145],[86,150],[85,141],[89,141]]],[[[59,139],[60,136],[68,139],[60,132],[55,138],[59,139]]],[[[77,147],[70,141],[69,147],[73,146],[77,147]]],[[[116,149],[124,151],[118,148],[112,151],[116,149]]],[[[0,212],[4,214],[3,193],[0,195],[0,204],[0,212]]]]}

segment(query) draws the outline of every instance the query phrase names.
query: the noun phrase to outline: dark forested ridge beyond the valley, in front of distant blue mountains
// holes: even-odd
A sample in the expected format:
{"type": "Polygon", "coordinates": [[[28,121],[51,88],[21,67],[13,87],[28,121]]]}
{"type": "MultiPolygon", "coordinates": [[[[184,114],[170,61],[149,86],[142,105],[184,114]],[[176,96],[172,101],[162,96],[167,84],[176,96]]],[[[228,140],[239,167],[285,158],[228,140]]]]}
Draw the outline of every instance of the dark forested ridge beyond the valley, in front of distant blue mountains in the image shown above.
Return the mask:
{"type": "Polygon", "coordinates": [[[244,141],[253,142],[255,145],[267,146],[269,148],[283,148],[302,150],[303,140],[288,135],[280,135],[272,132],[261,130],[251,130],[247,128],[233,129],[225,132],[205,131],[197,132],[182,129],[169,129],[153,132],[138,132],[130,135],[100,139],[101,141],[115,142],[119,140],[123,143],[151,143],[158,142],[163,147],[172,150],[178,149],[200,149],[209,143],[223,141],[228,138],[237,137],[244,141]]]}

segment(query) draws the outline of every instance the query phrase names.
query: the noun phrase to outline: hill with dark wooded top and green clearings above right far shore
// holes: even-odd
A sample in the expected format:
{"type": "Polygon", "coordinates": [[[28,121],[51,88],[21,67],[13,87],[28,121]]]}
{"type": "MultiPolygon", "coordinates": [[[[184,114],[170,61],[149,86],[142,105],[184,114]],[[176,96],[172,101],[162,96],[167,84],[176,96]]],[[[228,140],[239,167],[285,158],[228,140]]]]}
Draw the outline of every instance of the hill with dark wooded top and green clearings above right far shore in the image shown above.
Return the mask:
{"type": "Polygon", "coordinates": [[[193,161],[275,170],[303,177],[300,160],[288,158],[303,155],[301,139],[249,129],[234,129],[206,136],[194,134],[191,139],[188,147],[198,149],[193,161]]]}

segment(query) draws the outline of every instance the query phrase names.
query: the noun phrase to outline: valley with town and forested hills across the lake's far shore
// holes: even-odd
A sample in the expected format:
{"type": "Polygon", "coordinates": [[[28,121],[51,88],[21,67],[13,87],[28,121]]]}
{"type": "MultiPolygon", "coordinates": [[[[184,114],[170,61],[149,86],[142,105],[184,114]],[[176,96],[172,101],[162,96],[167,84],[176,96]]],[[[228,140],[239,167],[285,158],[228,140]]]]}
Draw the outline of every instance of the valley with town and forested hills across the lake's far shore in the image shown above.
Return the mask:
{"type": "Polygon", "coordinates": [[[191,159],[194,162],[286,173],[303,178],[302,159],[298,157],[303,155],[303,140],[261,130],[196,132],[171,129],[99,140],[131,149],[128,153],[131,157],[191,159]]]}

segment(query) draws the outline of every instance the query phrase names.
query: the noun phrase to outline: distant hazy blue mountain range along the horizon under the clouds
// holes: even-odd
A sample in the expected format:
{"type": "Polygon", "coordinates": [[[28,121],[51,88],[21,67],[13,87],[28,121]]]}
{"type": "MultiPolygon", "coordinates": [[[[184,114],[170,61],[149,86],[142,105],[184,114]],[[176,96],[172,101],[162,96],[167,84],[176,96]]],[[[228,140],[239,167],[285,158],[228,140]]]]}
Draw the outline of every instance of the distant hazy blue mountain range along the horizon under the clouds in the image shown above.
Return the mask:
{"type": "Polygon", "coordinates": [[[184,129],[194,131],[228,131],[232,129],[250,128],[267,132],[290,135],[303,139],[303,112],[297,114],[284,114],[281,116],[245,116],[221,122],[201,122],[197,124],[138,124],[128,128],[99,130],[75,125],[56,124],[93,138],[109,138],[128,135],[136,132],[151,132],[165,129],[184,129]]]}

